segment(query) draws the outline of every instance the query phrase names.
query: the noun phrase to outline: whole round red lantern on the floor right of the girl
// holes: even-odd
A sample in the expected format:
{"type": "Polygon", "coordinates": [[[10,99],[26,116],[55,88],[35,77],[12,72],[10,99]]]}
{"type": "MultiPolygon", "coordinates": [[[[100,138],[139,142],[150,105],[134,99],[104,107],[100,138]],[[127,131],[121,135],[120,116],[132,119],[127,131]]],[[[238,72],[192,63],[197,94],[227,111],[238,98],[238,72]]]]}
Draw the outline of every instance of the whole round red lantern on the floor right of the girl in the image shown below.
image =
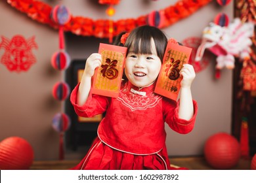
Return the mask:
{"type": "Polygon", "coordinates": [[[240,159],[240,144],[228,133],[217,133],[205,142],[204,156],[213,168],[230,169],[240,159]]]}

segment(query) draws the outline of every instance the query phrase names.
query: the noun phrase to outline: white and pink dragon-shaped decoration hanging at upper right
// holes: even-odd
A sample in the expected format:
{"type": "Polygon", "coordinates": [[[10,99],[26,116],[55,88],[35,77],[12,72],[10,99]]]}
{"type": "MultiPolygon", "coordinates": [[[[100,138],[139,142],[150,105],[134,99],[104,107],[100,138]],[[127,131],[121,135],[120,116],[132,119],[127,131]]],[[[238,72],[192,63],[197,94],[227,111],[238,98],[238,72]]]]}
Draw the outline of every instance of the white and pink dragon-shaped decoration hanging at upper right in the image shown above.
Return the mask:
{"type": "Polygon", "coordinates": [[[216,69],[234,69],[235,58],[250,58],[250,38],[253,37],[253,31],[253,23],[242,23],[240,18],[234,18],[232,23],[224,27],[211,22],[203,29],[202,42],[196,51],[195,61],[198,63],[205,49],[208,49],[217,56],[216,69]]]}

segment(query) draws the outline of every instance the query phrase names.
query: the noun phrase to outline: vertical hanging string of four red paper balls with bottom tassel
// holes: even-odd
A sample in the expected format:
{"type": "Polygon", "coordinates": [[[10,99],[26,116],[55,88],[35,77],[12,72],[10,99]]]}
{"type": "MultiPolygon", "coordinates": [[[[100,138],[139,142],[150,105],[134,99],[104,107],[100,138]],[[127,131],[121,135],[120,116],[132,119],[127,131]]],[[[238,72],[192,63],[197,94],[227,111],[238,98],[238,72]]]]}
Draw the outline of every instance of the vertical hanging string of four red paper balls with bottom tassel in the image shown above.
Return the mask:
{"type": "MultiPolygon", "coordinates": [[[[65,52],[65,41],[64,41],[64,25],[70,22],[71,14],[64,5],[56,5],[51,10],[51,19],[55,24],[58,25],[59,29],[59,51],[55,52],[51,59],[51,65],[54,69],[58,71],[64,71],[70,65],[70,56],[65,52]]],[[[56,82],[53,86],[53,97],[58,101],[64,101],[70,94],[70,87],[66,82],[56,82]]],[[[63,103],[62,103],[63,105],[63,103]]],[[[63,138],[64,131],[70,127],[69,117],[60,112],[56,114],[53,118],[53,127],[60,134],[60,144],[59,144],[59,159],[64,159],[64,146],[63,138]]]]}

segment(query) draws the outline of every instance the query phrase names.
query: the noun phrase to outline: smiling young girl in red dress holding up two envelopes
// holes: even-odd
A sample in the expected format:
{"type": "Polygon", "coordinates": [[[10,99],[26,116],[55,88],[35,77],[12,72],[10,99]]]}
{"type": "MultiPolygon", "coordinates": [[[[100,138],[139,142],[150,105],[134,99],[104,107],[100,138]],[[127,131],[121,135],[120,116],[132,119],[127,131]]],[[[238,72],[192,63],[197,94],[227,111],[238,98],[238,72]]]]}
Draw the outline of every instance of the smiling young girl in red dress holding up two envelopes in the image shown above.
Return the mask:
{"type": "Polygon", "coordinates": [[[102,59],[100,54],[87,58],[81,82],[70,99],[79,116],[103,112],[106,116],[87,155],[73,169],[172,169],[165,145],[165,122],[178,133],[189,133],[197,104],[190,91],[195,77],[192,65],[181,69],[178,102],[154,93],[166,45],[167,38],[156,27],[144,25],[131,31],[124,44],[127,80],[122,82],[117,99],[91,94],[91,77],[102,59]]]}

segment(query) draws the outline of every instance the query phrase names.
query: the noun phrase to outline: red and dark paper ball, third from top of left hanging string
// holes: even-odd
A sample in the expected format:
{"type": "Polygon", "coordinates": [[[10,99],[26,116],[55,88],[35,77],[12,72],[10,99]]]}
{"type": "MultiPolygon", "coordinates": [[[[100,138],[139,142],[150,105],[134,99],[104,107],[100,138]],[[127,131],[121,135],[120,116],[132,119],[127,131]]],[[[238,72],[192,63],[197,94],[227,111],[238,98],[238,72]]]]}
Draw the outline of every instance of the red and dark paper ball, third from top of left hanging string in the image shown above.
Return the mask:
{"type": "Polygon", "coordinates": [[[63,101],[70,94],[70,87],[66,82],[57,82],[53,86],[53,97],[56,100],[63,101]]]}

